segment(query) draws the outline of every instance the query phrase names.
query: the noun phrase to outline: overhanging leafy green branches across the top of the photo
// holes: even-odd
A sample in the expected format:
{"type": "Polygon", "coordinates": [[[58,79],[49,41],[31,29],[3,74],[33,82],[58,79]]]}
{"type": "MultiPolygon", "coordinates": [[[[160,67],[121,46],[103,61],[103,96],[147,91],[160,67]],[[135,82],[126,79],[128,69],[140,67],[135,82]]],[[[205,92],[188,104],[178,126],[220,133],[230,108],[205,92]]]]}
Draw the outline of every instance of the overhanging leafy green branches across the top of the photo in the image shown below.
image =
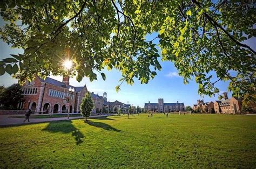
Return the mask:
{"type": "Polygon", "coordinates": [[[218,94],[224,80],[234,96],[255,101],[256,52],[244,41],[256,36],[254,1],[3,0],[0,9],[2,40],[24,49],[0,62],[0,75],[25,82],[69,73],[81,81],[100,72],[105,80],[101,71],[116,68],[120,84],[132,85],[153,79],[161,59],[174,63],[184,83],[195,80],[200,95],[218,94]],[[56,61],[65,59],[74,62],[69,72],[56,61]]]}

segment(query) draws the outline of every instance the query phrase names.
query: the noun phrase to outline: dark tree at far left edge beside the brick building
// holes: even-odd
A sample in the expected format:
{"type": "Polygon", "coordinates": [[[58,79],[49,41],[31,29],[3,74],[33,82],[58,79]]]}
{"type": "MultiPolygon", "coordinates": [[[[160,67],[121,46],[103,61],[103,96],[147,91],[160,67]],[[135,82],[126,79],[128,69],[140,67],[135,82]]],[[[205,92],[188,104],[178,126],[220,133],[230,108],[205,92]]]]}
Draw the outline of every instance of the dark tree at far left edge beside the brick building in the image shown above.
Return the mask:
{"type": "Polygon", "coordinates": [[[11,85],[4,89],[1,87],[0,104],[4,105],[5,109],[17,109],[19,102],[23,100],[23,91],[19,84],[11,85]]]}

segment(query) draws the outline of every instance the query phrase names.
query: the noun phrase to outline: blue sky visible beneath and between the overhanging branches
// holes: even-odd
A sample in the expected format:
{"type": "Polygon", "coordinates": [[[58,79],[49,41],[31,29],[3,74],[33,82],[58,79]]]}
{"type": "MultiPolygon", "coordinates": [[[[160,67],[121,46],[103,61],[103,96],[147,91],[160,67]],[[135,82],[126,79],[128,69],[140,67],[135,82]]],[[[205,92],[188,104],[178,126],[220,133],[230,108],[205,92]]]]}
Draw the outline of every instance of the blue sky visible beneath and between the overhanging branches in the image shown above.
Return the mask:
{"type": "MultiPolygon", "coordinates": [[[[3,20],[0,19],[0,26],[2,27],[3,20]]],[[[151,40],[156,37],[156,34],[147,36],[146,40],[151,40]]],[[[246,42],[254,49],[256,41],[250,39],[246,42]]],[[[23,53],[22,49],[11,48],[8,44],[5,44],[2,39],[0,39],[0,60],[3,58],[9,58],[10,54],[23,53]]],[[[160,60],[160,59],[159,59],[160,60]]],[[[160,61],[162,66],[161,71],[157,72],[157,76],[150,80],[148,84],[140,84],[140,81],[134,79],[134,84],[127,85],[123,83],[121,90],[117,93],[115,87],[119,85],[119,79],[121,78],[121,73],[112,70],[103,72],[106,74],[106,80],[102,80],[99,73],[98,80],[90,82],[88,78],[84,78],[81,82],[77,82],[75,78],[70,79],[70,85],[73,86],[87,86],[89,91],[98,93],[102,95],[104,91],[107,93],[107,99],[109,101],[121,101],[123,103],[129,102],[129,104],[139,105],[144,107],[144,103],[147,102],[158,102],[158,98],[164,98],[164,102],[183,102],[186,105],[193,105],[197,103],[197,100],[202,97],[198,95],[198,85],[196,82],[191,81],[187,85],[184,85],[183,78],[178,75],[177,69],[174,67],[173,63],[170,61],[160,61]]],[[[60,76],[51,76],[51,78],[61,81],[60,76]]],[[[213,79],[214,80],[214,79],[213,79]]],[[[9,74],[5,73],[0,76],[0,85],[10,86],[12,83],[17,82],[9,74]]],[[[219,81],[217,87],[219,87],[220,93],[227,90],[228,82],[219,81]]],[[[228,96],[231,97],[231,93],[228,96]]],[[[209,97],[204,96],[204,101],[218,100],[218,96],[209,97]]]]}

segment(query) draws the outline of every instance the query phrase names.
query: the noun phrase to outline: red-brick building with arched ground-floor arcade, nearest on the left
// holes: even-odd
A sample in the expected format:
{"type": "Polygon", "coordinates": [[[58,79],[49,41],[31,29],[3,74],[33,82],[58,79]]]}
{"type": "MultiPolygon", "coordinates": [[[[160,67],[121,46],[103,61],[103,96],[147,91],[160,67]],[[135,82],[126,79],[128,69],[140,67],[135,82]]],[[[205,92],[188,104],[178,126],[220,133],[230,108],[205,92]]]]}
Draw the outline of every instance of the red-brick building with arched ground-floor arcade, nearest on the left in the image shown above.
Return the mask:
{"type": "Polygon", "coordinates": [[[33,112],[79,112],[79,105],[87,92],[86,86],[75,87],[69,84],[69,77],[64,77],[62,82],[46,77],[45,80],[36,76],[35,80],[26,82],[22,86],[24,100],[18,108],[33,112]],[[69,89],[73,89],[71,93],[69,89]],[[67,98],[70,98],[69,103],[67,98]]]}

